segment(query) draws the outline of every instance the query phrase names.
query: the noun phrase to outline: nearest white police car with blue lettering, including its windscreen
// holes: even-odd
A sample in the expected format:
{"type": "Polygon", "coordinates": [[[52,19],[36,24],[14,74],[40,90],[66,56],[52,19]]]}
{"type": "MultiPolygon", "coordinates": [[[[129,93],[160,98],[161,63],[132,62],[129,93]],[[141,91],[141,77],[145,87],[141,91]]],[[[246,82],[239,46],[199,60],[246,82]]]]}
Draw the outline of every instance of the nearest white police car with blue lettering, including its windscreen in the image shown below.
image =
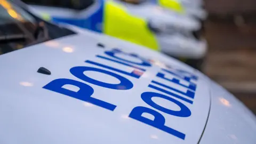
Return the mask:
{"type": "Polygon", "coordinates": [[[182,62],[0,11],[1,143],[255,143],[251,111],[182,62]]]}

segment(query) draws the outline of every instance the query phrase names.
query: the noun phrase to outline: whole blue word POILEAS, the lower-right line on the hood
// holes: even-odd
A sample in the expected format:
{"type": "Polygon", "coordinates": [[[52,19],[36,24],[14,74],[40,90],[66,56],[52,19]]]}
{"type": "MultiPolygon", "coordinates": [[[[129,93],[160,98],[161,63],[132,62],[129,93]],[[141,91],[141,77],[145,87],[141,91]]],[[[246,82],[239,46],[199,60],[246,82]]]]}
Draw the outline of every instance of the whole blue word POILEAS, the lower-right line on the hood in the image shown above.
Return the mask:
{"type": "MultiPolygon", "coordinates": [[[[190,97],[190,98],[194,99],[195,92],[193,90],[196,90],[196,84],[190,82],[190,80],[191,79],[197,80],[196,76],[194,76],[194,75],[188,76],[187,75],[188,73],[186,73],[186,71],[182,71],[182,70],[177,70],[175,72],[170,71],[170,70],[166,70],[166,69],[162,69],[162,70],[166,71],[167,73],[171,74],[172,76],[176,76],[178,78],[181,78],[181,79],[189,82],[189,86],[180,84],[180,81],[177,78],[168,79],[168,78],[165,77],[165,75],[163,73],[158,73],[156,75],[157,77],[160,77],[160,78],[165,79],[169,82],[173,82],[175,84],[187,87],[187,88],[192,89],[192,90],[187,90],[187,92],[182,92],[180,90],[174,89],[174,87],[170,87],[168,85],[159,83],[159,82],[154,81],[154,80],[151,81],[151,83],[162,86],[162,87],[165,87],[167,89],[170,89],[172,91],[178,92],[180,94],[186,95],[187,97],[190,97]],[[181,73],[179,73],[180,71],[181,71],[181,73]],[[183,75],[183,74],[186,74],[186,75],[183,75]]],[[[182,102],[180,102],[178,100],[175,100],[171,97],[176,97],[176,98],[178,98],[180,100],[183,100],[183,101],[186,101],[190,104],[193,104],[193,101],[191,101],[187,98],[181,97],[180,95],[172,93],[170,91],[166,91],[164,89],[161,89],[160,87],[155,86],[155,85],[149,84],[148,87],[150,87],[151,89],[155,89],[157,91],[161,91],[161,92],[164,92],[166,94],[169,94],[169,96],[170,96],[170,97],[168,97],[167,95],[156,93],[156,92],[144,92],[144,93],[141,94],[141,99],[144,102],[146,102],[149,106],[151,106],[155,109],[158,109],[158,110],[160,110],[160,111],[162,111],[166,114],[173,115],[173,116],[178,116],[178,117],[189,117],[189,116],[191,116],[191,111],[186,105],[184,105],[182,102]],[[153,97],[158,97],[158,98],[169,100],[169,101],[175,103],[176,105],[178,105],[180,107],[180,110],[175,111],[175,110],[164,108],[163,106],[158,105],[157,103],[155,103],[152,100],[153,97]]],[[[153,110],[153,109],[146,108],[146,107],[135,107],[131,111],[130,117],[133,118],[133,119],[136,119],[137,121],[140,121],[142,123],[145,123],[145,124],[151,125],[153,127],[156,127],[157,129],[160,129],[162,131],[170,133],[170,134],[174,135],[175,137],[178,137],[180,139],[185,140],[186,134],[181,133],[177,130],[173,130],[170,127],[165,126],[164,125],[164,123],[165,123],[164,116],[161,115],[160,113],[158,113],[157,111],[153,110]],[[148,119],[146,117],[142,117],[143,113],[149,113],[149,114],[153,115],[155,117],[154,121],[151,121],[150,119],[148,119]]]]}

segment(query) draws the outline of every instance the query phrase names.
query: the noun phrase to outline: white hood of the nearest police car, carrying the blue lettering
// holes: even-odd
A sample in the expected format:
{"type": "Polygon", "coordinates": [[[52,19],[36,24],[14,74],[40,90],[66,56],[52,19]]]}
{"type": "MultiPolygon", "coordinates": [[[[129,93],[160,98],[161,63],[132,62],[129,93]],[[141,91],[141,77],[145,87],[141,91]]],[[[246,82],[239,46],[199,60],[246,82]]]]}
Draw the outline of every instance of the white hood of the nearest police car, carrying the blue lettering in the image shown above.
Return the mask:
{"type": "MultiPolygon", "coordinates": [[[[204,77],[197,75],[196,70],[145,47],[88,31],[3,54],[0,66],[1,143],[197,143],[209,114],[209,87],[204,77]],[[106,55],[106,52],[113,51],[114,48],[118,49],[114,52],[126,53],[117,54],[122,60],[109,60],[113,57],[106,55]],[[141,62],[141,57],[147,59],[146,63],[151,66],[134,65],[141,62]],[[133,64],[129,61],[133,61],[133,64]],[[94,65],[93,62],[105,67],[94,65]],[[37,70],[41,67],[50,70],[51,75],[38,73],[37,70]],[[131,88],[126,82],[126,86],[131,88],[129,90],[125,86],[109,89],[106,85],[102,87],[97,83],[85,82],[71,74],[71,68],[74,67],[110,71],[108,73],[111,76],[102,71],[84,71],[84,75],[97,79],[97,82],[118,84],[116,77],[122,76],[133,85],[131,88]],[[175,72],[167,73],[162,68],[175,72]],[[137,70],[133,74],[137,74],[139,78],[129,75],[134,69],[137,70]],[[169,79],[177,77],[185,86],[157,77],[160,73],[169,79]],[[196,84],[195,91],[186,88],[189,83],[184,78],[189,76],[185,76],[185,73],[191,76],[191,83],[196,84]],[[110,110],[98,106],[97,102],[75,99],[47,88],[46,85],[56,79],[71,79],[70,81],[89,85],[93,92],[87,89],[83,94],[92,92],[92,98],[112,103],[116,107],[110,110]],[[153,89],[149,85],[158,88],[153,89]],[[170,101],[153,95],[152,99],[157,104],[152,107],[141,98],[141,94],[145,92],[155,92],[172,99],[170,101]],[[185,94],[193,92],[194,99],[185,94]],[[158,114],[155,117],[158,126],[146,124],[154,121],[154,115],[149,113],[143,113],[142,116],[148,119],[143,122],[134,118],[134,115],[131,116],[131,111],[136,107],[154,110],[158,114]],[[183,112],[179,113],[182,109],[183,112]],[[164,125],[161,126],[161,123],[164,125]],[[173,131],[166,130],[163,126],[179,131],[185,137],[172,133],[173,131]]],[[[52,86],[55,87],[56,84],[52,86]]],[[[72,84],[63,85],[62,89],[70,92],[82,90],[72,84]]]]}

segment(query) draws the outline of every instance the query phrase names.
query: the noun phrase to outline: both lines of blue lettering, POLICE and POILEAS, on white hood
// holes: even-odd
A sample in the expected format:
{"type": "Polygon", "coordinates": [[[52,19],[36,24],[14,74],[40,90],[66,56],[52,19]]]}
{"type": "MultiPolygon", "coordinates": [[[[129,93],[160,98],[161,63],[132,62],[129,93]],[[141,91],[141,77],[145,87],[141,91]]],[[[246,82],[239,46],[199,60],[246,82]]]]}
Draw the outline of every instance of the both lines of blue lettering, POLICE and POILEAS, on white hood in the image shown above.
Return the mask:
{"type": "MultiPolygon", "coordinates": [[[[105,87],[107,89],[113,89],[113,90],[119,91],[119,90],[130,90],[133,88],[133,83],[128,78],[126,78],[124,76],[130,77],[130,78],[131,77],[140,78],[141,75],[146,72],[145,68],[151,67],[151,63],[148,60],[140,57],[138,54],[135,54],[135,53],[125,53],[125,52],[122,52],[121,50],[113,49],[111,51],[105,51],[105,54],[107,55],[106,57],[102,56],[102,55],[96,55],[95,57],[99,58],[99,59],[115,62],[115,63],[118,63],[119,65],[127,66],[129,68],[134,68],[134,70],[132,70],[132,72],[131,71],[127,72],[122,69],[117,69],[115,67],[103,65],[102,63],[98,63],[98,62],[91,61],[91,60],[86,60],[85,61],[86,64],[97,66],[97,68],[88,67],[88,66],[77,66],[77,67],[70,68],[70,73],[72,75],[74,75],[75,77],[81,79],[82,81],[90,83],[90,85],[92,84],[92,85],[96,85],[96,86],[100,86],[100,87],[105,87]],[[133,59],[134,58],[138,59],[138,60],[140,60],[140,62],[124,59],[124,57],[122,58],[122,55],[129,56],[130,58],[133,58],[133,59]],[[100,67],[100,68],[98,68],[98,67],[100,67]],[[103,68],[103,69],[101,69],[101,68],[103,68]],[[105,69],[107,69],[107,70],[105,70],[105,69]],[[110,71],[108,71],[108,70],[110,70],[110,71]],[[112,77],[118,79],[118,81],[120,81],[120,83],[113,84],[113,83],[101,82],[101,81],[96,80],[95,78],[87,76],[86,74],[84,74],[84,71],[94,71],[97,73],[101,73],[103,75],[109,75],[109,76],[112,76],[112,77]],[[111,72],[111,71],[114,71],[114,72],[111,72]],[[123,74],[124,76],[118,75],[118,73],[123,74]]],[[[191,111],[182,102],[184,101],[184,102],[193,104],[193,101],[190,99],[187,99],[186,97],[194,99],[196,86],[197,86],[195,84],[195,81],[198,80],[198,77],[193,74],[188,73],[185,70],[173,69],[172,67],[167,67],[167,68],[169,68],[169,69],[162,69],[161,72],[159,71],[157,73],[156,77],[158,77],[158,79],[161,78],[162,80],[166,80],[168,82],[172,82],[174,84],[186,87],[188,90],[186,92],[183,92],[183,91],[175,89],[174,87],[171,87],[169,85],[165,85],[165,84],[161,83],[161,81],[154,81],[152,79],[151,84],[149,84],[148,87],[150,87],[151,89],[157,90],[159,92],[163,92],[166,95],[157,93],[157,92],[143,92],[141,94],[141,99],[145,103],[147,103],[147,105],[149,105],[159,111],[162,111],[163,113],[166,113],[166,114],[169,114],[172,116],[177,116],[177,117],[189,117],[191,115],[191,111]],[[166,74],[164,74],[163,72],[166,74]],[[168,74],[174,76],[175,78],[172,78],[172,79],[166,78],[166,75],[168,75],[168,74]],[[191,82],[191,80],[194,80],[194,81],[191,82]],[[184,85],[180,81],[186,81],[189,83],[189,85],[188,86],[184,85]],[[175,91],[178,94],[175,94],[171,91],[164,90],[164,89],[160,88],[159,86],[162,86],[167,90],[175,91]],[[179,94],[185,95],[186,97],[181,97],[181,95],[179,95],[179,94]],[[155,103],[152,100],[152,98],[154,98],[154,97],[168,100],[168,101],[174,103],[175,105],[179,106],[180,110],[175,111],[172,109],[167,109],[167,108],[161,106],[161,103],[155,103]],[[176,100],[173,97],[178,98],[181,101],[176,100]]],[[[90,85],[75,81],[73,79],[59,78],[59,79],[54,79],[50,83],[46,84],[43,88],[46,90],[54,91],[54,92],[57,92],[60,94],[67,95],[69,97],[79,99],[82,101],[90,102],[96,106],[114,111],[115,108],[117,107],[116,105],[113,105],[109,102],[102,101],[102,100],[91,97],[93,95],[94,90],[93,90],[93,87],[90,85]],[[73,85],[73,86],[79,87],[79,90],[77,92],[71,91],[71,90],[65,89],[63,87],[64,85],[73,85]]],[[[142,106],[137,106],[137,107],[133,108],[129,117],[131,117],[139,122],[153,126],[157,129],[167,132],[169,134],[172,134],[175,137],[185,140],[186,134],[179,132],[177,130],[174,130],[171,127],[165,126],[165,117],[161,113],[158,113],[156,110],[142,107],[142,106]],[[146,117],[143,117],[142,116],[143,113],[153,115],[154,119],[151,120],[146,117]]]]}

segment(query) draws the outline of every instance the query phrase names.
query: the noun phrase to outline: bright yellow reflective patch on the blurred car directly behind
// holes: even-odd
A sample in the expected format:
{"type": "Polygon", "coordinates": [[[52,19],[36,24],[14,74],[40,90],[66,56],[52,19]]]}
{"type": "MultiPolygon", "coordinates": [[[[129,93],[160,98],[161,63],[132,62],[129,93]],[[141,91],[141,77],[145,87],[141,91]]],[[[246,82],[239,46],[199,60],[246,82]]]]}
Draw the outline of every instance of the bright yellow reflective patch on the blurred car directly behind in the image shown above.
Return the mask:
{"type": "Polygon", "coordinates": [[[147,21],[129,14],[122,5],[107,1],[103,19],[103,33],[158,50],[157,39],[148,29],[147,21]]]}

